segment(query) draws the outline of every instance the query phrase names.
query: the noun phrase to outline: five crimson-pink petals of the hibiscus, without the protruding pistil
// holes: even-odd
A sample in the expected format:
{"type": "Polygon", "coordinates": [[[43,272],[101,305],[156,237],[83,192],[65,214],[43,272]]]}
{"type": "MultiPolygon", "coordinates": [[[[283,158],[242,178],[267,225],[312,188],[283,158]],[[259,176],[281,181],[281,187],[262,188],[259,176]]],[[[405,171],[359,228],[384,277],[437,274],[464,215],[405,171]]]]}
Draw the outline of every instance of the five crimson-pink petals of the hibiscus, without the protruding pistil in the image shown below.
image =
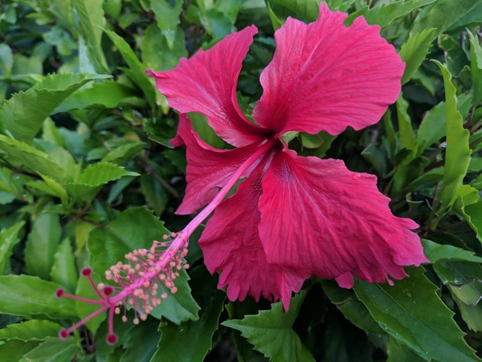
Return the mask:
{"type": "Polygon", "coordinates": [[[353,276],[393,284],[389,277],[407,276],[403,266],[427,261],[411,231],[418,225],[392,214],[376,176],[352,172],[341,160],[298,156],[281,137],[363,129],[398,98],[404,63],[394,47],[378,26],[359,17],[345,27],[346,17],[322,3],[316,22],[288,18],[276,31],[274,58],[261,74],[263,96],[253,111],[256,124],[236,102],[255,26],[181,59],[171,71],[149,71],[181,113],[173,143],[186,145],[188,165],[178,214],[210,203],[246,167],[246,180],[217,206],[199,240],[207,268],[220,272],[218,287],[227,286],[232,301],[262,295],[288,309],[292,292],[312,274],[343,288],[353,286],[353,276]],[[205,115],[237,148],[203,142],[188,112],[205,115]]]}

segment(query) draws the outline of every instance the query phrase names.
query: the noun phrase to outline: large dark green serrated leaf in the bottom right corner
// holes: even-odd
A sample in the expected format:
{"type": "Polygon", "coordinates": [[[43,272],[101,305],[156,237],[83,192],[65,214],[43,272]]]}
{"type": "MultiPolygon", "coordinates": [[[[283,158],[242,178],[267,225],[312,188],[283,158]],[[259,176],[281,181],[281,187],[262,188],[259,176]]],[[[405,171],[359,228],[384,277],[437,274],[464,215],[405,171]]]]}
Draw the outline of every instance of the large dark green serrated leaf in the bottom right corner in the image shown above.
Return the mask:
{"type": "Polygon", "coordinates": [[[407,268],[407,273],[410,277],[393,287],[357,281],[355,294],[388,334],[425,360],[479,360],[424,269],[407,268]]]}

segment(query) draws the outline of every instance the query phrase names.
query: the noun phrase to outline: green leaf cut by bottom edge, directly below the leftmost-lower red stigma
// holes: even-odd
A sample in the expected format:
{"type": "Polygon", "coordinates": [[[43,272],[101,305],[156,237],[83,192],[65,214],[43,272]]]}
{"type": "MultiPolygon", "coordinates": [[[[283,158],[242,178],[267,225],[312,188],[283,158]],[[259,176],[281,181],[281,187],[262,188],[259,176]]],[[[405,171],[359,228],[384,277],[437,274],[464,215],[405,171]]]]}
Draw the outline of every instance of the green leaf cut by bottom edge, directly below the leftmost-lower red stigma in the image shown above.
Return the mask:
{"type": "Polygon", "coordinates": [[[67,340],[48,338],[24,354],[20,362],[67,362],[72,360],[72,357],[79,351],[77,340],[74,337],[67,338],[67,340]]]}

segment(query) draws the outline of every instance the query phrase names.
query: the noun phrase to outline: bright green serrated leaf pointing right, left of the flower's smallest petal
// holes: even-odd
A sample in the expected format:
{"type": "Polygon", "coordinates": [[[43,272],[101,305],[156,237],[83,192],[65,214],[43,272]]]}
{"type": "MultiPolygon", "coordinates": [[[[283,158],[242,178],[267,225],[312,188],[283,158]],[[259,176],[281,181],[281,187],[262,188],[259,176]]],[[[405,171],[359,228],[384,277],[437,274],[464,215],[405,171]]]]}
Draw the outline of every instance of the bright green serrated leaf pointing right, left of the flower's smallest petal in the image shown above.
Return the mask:
{"type": "Polygon", "coordinates": [[[124,176],[139,176],[139,173],[124,169],[110,162],[97,162],[89,165],[75,184],[69,184],[68,190],[74,197],[88,192],[95,192],[98,187],[124,176]]]}

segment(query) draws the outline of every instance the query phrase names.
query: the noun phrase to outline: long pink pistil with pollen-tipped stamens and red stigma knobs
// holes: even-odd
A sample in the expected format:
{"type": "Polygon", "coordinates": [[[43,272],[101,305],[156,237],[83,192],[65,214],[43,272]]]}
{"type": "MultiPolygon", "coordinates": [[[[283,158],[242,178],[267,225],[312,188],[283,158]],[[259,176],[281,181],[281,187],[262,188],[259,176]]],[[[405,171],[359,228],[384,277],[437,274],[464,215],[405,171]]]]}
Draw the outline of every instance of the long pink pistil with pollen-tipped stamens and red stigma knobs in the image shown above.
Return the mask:
{"type": "MultiPolygon", "coordinates": [[[[277,140],[272,138],[261,144],[260,147],[239,166],[216,197],[196,215],[182,231],[164,235],[162,242],[155,240],[150,249],[137,249],[126,254],[128,263],[124,264],[119,261],[117,264],[112,265],[110,269],[105,272],[105,277],[107,280],[114,281],[119,287],[114,288],[104,286],[103,284],[97,287],[92,280],[92,269],[88,267],[82,269],[82,276],[89,280],[100,300],[77,297],[65,293],[63,289],[57,290],[57,298],[66,297],[89,304],[102,305],[95,312],[75,323],[70,328],[62,329],[59,332],[59,337],[62,339],[67,338],[75,329],[108,309],[108,334],[106,341],[109,344],[115,344],[118,338],[113,331],[113,315],[114,313],[120,314],[121,310],[119,307],[124,306],[126,308],[126,305],[134,307],[134,324],[139,324],[138,312],[140,318],[146,320],[147,314],[149,314],[154,307],[161,304],[162,300],[168,297],[165,288],[169,289],[172,294],[177,292],[174,280],[180,275],[179,272],[181,269],[187,269],[189,267],[184,261],[184,257],[188,251],[189,236],[221,203],[244,172],[264,153],[268,152],[276,142],[277,140]],[[119,292],[113,297],[110,297],[114,289],[119,290],[119,292]]],[[[122,320],[124,322],[127,321],[126,310],[124,311],[122,320]]]]}

